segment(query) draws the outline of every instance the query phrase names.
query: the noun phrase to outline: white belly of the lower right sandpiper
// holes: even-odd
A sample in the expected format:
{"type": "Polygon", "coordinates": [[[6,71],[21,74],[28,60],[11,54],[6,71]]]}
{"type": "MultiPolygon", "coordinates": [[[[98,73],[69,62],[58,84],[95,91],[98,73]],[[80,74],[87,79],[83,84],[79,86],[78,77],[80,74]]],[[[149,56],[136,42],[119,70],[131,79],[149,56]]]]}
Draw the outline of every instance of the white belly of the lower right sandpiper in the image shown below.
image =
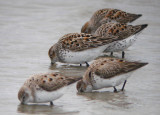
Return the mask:
{"type": "Polygon", "coordinates": [[[132,72],[129,72],[126,74],[117,75],[110,79],[103,79],[97,75],[94,75],[94,81],[92,82],[93,90],[118,86],[121,83],[124,83],[124,81],[127,80],[131,76],[131,74],[132,72]]]}

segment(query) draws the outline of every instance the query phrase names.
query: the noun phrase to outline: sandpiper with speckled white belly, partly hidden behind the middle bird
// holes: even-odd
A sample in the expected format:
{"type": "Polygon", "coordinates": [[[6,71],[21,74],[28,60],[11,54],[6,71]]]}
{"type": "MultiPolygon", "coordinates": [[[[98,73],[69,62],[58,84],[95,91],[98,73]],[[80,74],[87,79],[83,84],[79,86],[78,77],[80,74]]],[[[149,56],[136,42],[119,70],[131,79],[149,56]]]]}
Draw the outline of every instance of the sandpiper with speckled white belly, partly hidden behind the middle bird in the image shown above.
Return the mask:
{"type": "Polygon", "coordinates": [[[148,26],[148,24],[142,25],[127,25],[122,23],[106,23],[102,24],[94,33],[96,36],[118,36],[121,38],[126,38],[120,41],[115,41],[110,46],[108,46],[104,52],[119,52],[122,51],[122,58],[124,58],[125,52],[128,47],[130,47],[137,39],[137,35],[148,26]]]}

